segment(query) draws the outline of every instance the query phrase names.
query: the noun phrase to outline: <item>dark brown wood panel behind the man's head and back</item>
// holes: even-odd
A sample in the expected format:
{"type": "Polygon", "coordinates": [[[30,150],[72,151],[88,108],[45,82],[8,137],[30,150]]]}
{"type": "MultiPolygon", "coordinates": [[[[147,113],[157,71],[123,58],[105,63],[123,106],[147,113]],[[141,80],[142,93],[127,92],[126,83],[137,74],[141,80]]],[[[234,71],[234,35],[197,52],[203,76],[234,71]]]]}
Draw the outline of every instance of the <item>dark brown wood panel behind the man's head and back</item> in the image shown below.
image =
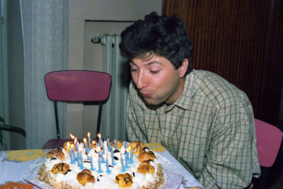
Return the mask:
{"type": "Polygon", "coordinates": [[[279,0],[164,0],[163,15],[174,14],[187,26],[194,68],[213,71],[245,91],[255,117],[276,125],[283,72],[274,36],[282,28],[279,0]]]}

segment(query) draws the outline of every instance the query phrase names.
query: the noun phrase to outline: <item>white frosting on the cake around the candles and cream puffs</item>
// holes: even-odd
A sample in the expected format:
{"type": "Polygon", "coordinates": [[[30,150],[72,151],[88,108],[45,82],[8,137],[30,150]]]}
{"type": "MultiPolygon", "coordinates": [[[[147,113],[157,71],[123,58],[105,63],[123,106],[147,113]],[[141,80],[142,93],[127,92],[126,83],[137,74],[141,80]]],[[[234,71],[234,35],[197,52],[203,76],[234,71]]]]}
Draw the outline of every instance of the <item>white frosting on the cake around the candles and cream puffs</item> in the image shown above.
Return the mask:
{"type": "MultiPolygon", "coordinates": [[[[127,143],[128,144],[128,143],[127,143]]],[[[95,149],[91,149],[91,151],[88,153],[88,155],[91,155],[93,157],[93,168],[96,168],[95,171],[91,171],[92,175],[96,179],[95,183],[87,183],[85,186],[81,185],[79,181],[77,181],[76,176],[78,173],[80,173],[83,169],[81,169],[77,162],[76,164],[71,164],[70,156],[69,156],[69,151],[65,151],[62,149],[64,152],[64,159],[46,159],[45,160],[45,166],[47,167],[47,171],[50,171],[50,175],[56,179],[57,182],[64,181],[66,183],[69,183],[69,185],[76,186],[79,188],[119,188],[118,184],[115,183],[115,177],[119,175],[122,172],[122,164],[121,164],[121,153],[125,151],[124,145],[120,149],[121,153],[114,153],[114,156],[116,156],[118,159],[114,160],[117,165],[112,166],[112,158],[111,158],[111,152],[108,151],[108,145],[107,142],[103,142],[103,146],[105,149],[105,154],[108,156],[108,164],[109,164],[109,169],[112,171],[110,174],[108,174],[106,164],[103,163],[101,164],[101,170],[103,173],[98,173],[98,154],[96,153],[95,149]],[[52,167],[54,164],[58,163],[66,163],[69,164],[70,170],[68,171],[66,175],[63,175],[62,173],[57,173],[54,174],[51,172],[52,167]],[[99,180],[99,181],[98,181],[99,180]]],[[[114,150],[114,149],[113,149],[114,150]]],[[[79,151],[85,152],[84,144],[81,142],[79,144],[79,151]]],[[[91,161],[88,160],[88,156],[85,153],[82,153],[83,155],[83,167],[87,168],[88,170],[91,170],[91,161]],[[87,161],[87,162],[86,162],[87,161]],[[88,163],[89,162],[89,163],[88,163]]],[[[106,155],[103,155],[104,157],[106,155]]],[[[130,154],[129,154],[130,156],[130,154]]],[[[125,165],[125,154],[122,153],[122,159],[124,160],[124,165],[125,165]]],[[[132,186],[129,188],[142,188],[142,186],[146,185],[146,183],[154,183],[158,179],[158,176],[156,175],[157,171],[157,166],[158,166],[158,160],[155,159],[154,162],[151,161],[151,165],[154,166],[155,168],[155,173],[146,173],[146,175],[142,173],[137,173],[137,168],[141,164],[139,159],[137,159],[137,154],[133,154],[133,161],[134,164],[128,164],[129,168],[124,173],[129,173],[130,175],[133,176],[133,183],[132,186]]],[[[81,162],[81,161],[80,161],[81,162]]]]}

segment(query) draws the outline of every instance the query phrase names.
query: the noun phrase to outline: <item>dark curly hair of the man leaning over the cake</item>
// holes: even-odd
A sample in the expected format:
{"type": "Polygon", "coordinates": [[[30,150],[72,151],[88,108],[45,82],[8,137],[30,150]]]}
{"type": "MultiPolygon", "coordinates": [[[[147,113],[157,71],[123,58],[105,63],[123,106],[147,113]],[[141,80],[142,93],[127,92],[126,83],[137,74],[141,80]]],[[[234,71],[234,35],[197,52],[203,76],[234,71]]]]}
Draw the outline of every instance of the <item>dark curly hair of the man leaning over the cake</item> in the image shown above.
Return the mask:
{"type": "Polygon", "coordinates": [[[121,33],[122,57],[132,60],[146,55],[166,57],[178,69],[184,59],[189,60],[186,74],[192,71],[190,61],[192,43],[187,28],[178,16],[158,16],[153,12],[127,27],[121,33]]]}

